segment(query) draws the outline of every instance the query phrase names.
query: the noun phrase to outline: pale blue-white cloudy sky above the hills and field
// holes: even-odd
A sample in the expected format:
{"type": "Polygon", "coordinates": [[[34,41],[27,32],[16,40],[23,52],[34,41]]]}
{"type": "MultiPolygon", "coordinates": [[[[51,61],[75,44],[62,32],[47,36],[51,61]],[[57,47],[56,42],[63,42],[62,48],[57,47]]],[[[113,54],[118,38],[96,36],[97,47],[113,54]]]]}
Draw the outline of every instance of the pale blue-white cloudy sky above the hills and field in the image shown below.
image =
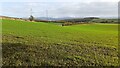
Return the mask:
{"type": "Polygon", "coordinates": [[[0,15],[12,17],[117,17],[119,0],[1,0],[0,15]],[[48,14],[48,15],[47,15],[48,14]]]}

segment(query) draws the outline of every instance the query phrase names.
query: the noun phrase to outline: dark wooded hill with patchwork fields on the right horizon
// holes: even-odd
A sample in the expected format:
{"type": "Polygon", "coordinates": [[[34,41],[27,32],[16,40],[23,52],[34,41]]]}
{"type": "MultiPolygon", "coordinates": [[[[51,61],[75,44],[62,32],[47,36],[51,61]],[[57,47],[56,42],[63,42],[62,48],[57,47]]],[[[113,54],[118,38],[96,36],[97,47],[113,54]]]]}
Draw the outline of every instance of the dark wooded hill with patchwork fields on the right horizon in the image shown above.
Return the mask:
{"type": "Polygon", "coordinates": [[[72,23],[118,23],[118,19],[107,19],[107,18],[98,18],[98,17],[86,17],[86,18],[73,18],[73,19],[64,19],[60,20],[64,22],[72,23]]]}

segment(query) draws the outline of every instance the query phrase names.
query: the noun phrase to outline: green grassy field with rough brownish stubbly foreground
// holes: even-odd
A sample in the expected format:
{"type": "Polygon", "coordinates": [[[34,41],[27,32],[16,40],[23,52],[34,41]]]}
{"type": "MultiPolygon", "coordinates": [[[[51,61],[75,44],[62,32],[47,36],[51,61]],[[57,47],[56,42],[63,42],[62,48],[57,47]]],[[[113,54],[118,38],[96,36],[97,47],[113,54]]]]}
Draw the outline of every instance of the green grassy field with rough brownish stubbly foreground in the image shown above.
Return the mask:
{"type": "Polygon", "coordinates": [[[117,66],[118,25],[2,21],[3,65],[117,66]]]}

